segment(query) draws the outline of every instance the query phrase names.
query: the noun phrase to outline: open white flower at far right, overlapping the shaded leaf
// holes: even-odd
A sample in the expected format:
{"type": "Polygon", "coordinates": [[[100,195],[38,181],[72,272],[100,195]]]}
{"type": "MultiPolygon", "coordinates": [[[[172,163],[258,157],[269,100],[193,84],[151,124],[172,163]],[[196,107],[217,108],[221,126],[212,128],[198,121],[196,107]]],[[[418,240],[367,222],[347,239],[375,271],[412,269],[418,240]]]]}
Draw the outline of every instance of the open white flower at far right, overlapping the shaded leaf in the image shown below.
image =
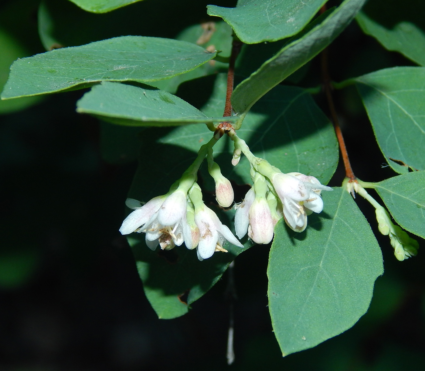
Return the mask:
{"type": "Polygon", "coordinates": [[[271,181],[282,202],[286,224],[296,232],[306,229],[308,214],[312,211],[322,211],[323,200],[320,192],[332,190],[321,185],[315,177],[301,173],[276,172],[271,181]]]}

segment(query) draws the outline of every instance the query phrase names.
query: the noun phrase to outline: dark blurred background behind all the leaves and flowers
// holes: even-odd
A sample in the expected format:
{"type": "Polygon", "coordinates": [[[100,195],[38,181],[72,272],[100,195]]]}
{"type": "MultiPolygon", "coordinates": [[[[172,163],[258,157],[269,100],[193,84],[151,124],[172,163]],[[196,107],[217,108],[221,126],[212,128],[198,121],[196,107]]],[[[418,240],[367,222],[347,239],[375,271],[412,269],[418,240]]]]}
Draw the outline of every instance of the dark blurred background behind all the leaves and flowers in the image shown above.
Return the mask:
{"type": "MultiPolygon", "coordinates": [[[[145,0],[111,13],[91,14],[67,0],[48,0],[44,16],[50,17],[51,25],[44,30],[62,46],[122,35],[174,38],[195,24],[217,21],[206,14],[209,3],[145,0]]],[[[214,4],[232,7],[235,3],[215,0],[214,4]]],[[[380,4],[371,0],[368,15],[379,18],[380,4]]],[[[0,86],[11,62],[45,51],[38,34],[39,5],[39,0],[3,0],[0,5],[0,86]]],[[[404,3],[392,0],[390,5],[397,9],[397,22],[404,20],[399,11],[404,3]]],[[[406,14],[406,20],[423,27],[423,14],[407,19],[411,15],[406,14]]],[[[250,52],[261,53],[263,46],[252,45],[250,52]]],[[[356,22],[336,39],[329,53],[335,81],[414,65],[363,34],[356,22]]],[[[283,82],[295,83],[320,84],[318,58],[283,82]]],[[[227,368],[227,275],[187,315],[157,319],[144,297],[130,247],[118,232],[139,141],[146,132],[77,114],[75,102],[85,91],[0,102],[0,368],[227,368]]],[[[184,84],[179,94],[187,98],[184,84]]],[[[334,96],[355,174],[365,181],[396,175],[385,165],[355,89],[348,87],[334,96]]],[[[315,98],[327,113],[324,97],[315,98]]],[[[156,166],[155,154],[146,162],[156,166]]],[[[340,186],[343,177],[339,167],[330,185],[340,186]]],[[[360,197],[356,201],[371,216],[376,231],[374,210],[360,197]]],[[[377,280],[368,313],[347,332],[285,358],[266,307],[269,247],[252,247],[241,254],[235,261],[236,360],[229,367],[244,371],[422,368],[425,257],[419,252],[416,258],[396,261],[388,239],[379,233],[377,238],[385,273],[377,280]]]]}

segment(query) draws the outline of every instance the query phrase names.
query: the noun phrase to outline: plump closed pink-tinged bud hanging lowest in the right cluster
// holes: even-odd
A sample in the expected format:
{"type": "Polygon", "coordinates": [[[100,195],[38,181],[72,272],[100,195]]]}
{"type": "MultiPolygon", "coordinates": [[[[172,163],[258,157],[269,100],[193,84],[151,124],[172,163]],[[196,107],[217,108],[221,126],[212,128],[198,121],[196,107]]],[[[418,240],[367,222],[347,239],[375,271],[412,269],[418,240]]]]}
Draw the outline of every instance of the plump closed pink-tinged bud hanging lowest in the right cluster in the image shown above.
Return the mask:
{"type": "Polygon", "coordinates": [[[258,244],[268,244],[273,239],[274,223],[269,204],[263,197],[255,198],[249,208],[248,236],[258,244]]]}

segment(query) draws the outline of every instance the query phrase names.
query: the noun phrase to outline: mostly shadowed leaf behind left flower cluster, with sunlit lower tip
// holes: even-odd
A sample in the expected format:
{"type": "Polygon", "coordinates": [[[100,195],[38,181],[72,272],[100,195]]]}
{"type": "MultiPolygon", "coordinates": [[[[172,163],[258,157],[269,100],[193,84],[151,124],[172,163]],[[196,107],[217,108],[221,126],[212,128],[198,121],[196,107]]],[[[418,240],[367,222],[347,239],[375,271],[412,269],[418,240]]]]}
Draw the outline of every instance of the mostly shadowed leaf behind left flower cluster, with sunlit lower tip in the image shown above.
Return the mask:
{"type": "MultiPolygon", "coordinates": [[[[128,197],[148,201],[165,194],[172,183],[195,159],[195,152],[179,146],[157,143],[164,129],[145,129],[142,132],[142,152],[139,168],[128,197]],[[153,158],[154,156],[154,158],[153,158]]],[[[212,132],[210,132],[212,136],[212,132]]],[[[211,207],[210,204],[208,204],[211,207]]],[[[234,211],[220,211],[212,207],[221,221],[230,225],[234,211]]],[[[195,250],[175,247],[171,251],[150,250],[144,234],[132,233],[128,241],[133,247],[144,292],[159,318],[176,318],[188,312],[191,303],[204,295],[221,277],[231,261],[252,244],[245,242],[241,249],[225,245],[228,253],[215,253],[210,259],[199,261],[195,250]],[[187,297],[187,298],[185,298],[187,297]],[[181,300],[186,300],[183,303],[181,300]]]]}

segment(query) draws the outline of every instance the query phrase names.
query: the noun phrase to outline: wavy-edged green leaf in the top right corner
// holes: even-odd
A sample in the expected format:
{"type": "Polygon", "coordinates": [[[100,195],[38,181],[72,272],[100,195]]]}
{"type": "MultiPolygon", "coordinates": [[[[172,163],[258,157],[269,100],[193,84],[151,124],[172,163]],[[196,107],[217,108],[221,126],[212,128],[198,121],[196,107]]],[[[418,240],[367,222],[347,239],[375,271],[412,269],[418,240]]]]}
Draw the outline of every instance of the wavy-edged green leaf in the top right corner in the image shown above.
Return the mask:
{"type": "Polygon", "coordinates": [[[385,48],[398,51],[418,65],[425,66],[425,33],[411,22],[399,22],[391,30],[360,12],[356,20],[365,34],[373,36],[385,48]]]}

